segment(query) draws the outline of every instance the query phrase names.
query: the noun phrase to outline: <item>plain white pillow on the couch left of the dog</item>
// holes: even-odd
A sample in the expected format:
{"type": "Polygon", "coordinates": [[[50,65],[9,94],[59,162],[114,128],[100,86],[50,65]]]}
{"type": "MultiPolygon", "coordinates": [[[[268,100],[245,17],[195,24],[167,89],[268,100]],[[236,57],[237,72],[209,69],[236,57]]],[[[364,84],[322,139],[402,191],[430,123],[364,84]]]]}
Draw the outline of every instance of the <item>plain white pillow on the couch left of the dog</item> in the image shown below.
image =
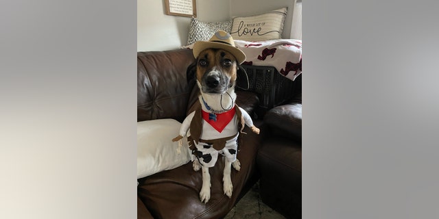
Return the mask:
{"type": "Polygon", "coordinates": [[[181,123],[170,118],[137,123],[137,179],[177,168],[191,160],[185,139],[180,154],[178,142],[172,142],[180,126],[181,123]]]}

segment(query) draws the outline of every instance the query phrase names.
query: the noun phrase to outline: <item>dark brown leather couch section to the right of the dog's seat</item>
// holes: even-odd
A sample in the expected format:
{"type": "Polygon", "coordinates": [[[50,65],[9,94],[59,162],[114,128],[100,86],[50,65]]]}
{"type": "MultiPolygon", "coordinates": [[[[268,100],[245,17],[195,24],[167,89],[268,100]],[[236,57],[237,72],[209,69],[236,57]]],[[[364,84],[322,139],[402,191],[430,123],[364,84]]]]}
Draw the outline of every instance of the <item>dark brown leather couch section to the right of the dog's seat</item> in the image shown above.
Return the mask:
{"type": "Polygon", "coordinates": [[[265,136],[258,151],[263,203],[286,218],[302,218],[302,77],[294,81],[292,98],[263,118],[265,136]]]}

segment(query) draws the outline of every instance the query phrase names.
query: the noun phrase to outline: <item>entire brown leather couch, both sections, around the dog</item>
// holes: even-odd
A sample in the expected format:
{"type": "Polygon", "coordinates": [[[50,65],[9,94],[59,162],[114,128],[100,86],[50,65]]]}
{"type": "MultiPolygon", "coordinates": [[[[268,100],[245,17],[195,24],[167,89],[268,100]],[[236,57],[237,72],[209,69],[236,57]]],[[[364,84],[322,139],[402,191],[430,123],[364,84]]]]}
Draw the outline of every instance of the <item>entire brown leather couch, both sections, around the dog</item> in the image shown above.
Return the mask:
{"type": "MultiPolygon", "coordinates": [[[[137,121],[174,118],[182,122],[185,119],[198,103],[197,86],[187,82],[187,67],[193,62],[189,49],[137,53],[137,121]]],[[[255,87],[258,90],[259,84],[255,87]]],[[[138,179],[138,218],[223,218],[259,179],[259,192],[265,204],[287,218],[300,218],[301,90],[299,76],[288,101],[283,100],[282,105],[270,109],[259,104],[259,99],[266,101],[266,93],[237,89],[237,104],[253,116],[255,125],[261,127],[261,134],[257,136],[246,127],[247,134],[239,137],[237,157],[241,170],[232,171],[232,198],[222,191],[222,159],[209,170],[212,188],[211,199],[206,204],[198,195],[201,172],[194,172],[189,162],[138,179]],[[261,106],[264,113],[268,112],[261,115],[261,106]]]]}

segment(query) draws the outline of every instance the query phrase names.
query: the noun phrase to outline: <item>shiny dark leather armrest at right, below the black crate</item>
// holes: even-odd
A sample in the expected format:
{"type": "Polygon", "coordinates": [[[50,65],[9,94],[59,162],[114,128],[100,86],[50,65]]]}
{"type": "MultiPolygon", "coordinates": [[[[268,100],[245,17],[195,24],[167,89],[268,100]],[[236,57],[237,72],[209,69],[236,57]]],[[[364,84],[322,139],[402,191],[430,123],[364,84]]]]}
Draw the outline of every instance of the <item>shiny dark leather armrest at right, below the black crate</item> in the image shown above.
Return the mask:
{"type": "Polygon", "coordinates": [[[302,142],[302,103],[288,103],[272,108],[263,118],[273,136],[302,142]]]}

